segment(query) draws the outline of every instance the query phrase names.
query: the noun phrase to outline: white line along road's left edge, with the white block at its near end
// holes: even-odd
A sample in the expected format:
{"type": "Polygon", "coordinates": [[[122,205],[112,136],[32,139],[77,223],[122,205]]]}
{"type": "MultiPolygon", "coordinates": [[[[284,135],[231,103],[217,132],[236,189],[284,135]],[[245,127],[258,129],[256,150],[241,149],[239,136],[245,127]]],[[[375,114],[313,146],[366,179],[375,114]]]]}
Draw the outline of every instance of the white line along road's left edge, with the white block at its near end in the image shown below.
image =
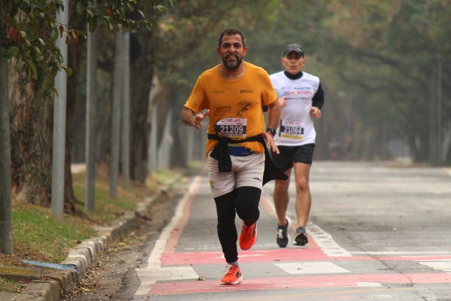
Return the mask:
{"type": "Polygon", "coordinates": [[[152,249],[152,253],[148,258],[148,265],[145,268],[136,268],[136,274],[141,281],[139,288],[136,290],[135,295],[146,295],[150,291],[150,286],[157,283],[157,281],[164,280],[181,280],[181,279],[198,279],[199,276],[191,267],[166,267],[161,268],[161,256],[163,255],[164,248],[171,236],[171,232],[175,226],[180,222],[183,217],[183,209],[189,198],[196,194],[199,189],[199,183],[202,177],[197,176],[187,194],[183,196],[183,199],[178,203],[175,209],[175,215],[171,219],[171,222],[161,231],[159,238],[155,241],[155,246],[152,249]]]}

